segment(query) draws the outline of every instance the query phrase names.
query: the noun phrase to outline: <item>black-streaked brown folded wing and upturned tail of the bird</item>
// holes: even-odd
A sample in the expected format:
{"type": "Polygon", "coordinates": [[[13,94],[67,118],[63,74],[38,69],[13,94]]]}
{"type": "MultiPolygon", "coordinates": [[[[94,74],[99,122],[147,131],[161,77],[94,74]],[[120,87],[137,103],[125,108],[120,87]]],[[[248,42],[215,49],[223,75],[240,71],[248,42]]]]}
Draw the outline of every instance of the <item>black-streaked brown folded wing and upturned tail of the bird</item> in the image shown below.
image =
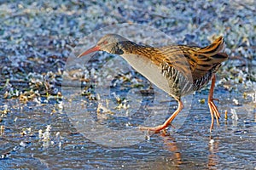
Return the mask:
{"type": "Polygon", "coordinates": [[[204,77],[208,71],[218,68],[221,62],[228,59],[228,55],[222,53],[223,48],[224,38],[218,37],[204,48],[169,46],[160,48],[160,53],[166,56],[163,62],[181,71],[185,76],[192,74],[193,80],[196,80],[204,77]]]}

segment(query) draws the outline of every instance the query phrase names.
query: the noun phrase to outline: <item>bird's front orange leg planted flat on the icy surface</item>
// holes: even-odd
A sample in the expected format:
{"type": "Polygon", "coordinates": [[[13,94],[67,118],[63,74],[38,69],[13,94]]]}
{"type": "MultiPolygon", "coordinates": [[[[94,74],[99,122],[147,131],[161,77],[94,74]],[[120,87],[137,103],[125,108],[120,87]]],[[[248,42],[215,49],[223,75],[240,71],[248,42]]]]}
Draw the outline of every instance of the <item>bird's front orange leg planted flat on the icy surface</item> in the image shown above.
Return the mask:
{"type": "Polygon", "coordinates": [[[158,133],[160,132],[161,130],[164,130],[166,127],[168,127],[173,119],[177,116],[177,114],[182,111],[183,109],[183,102],[180,100],[180,99],[177,99],[177,103],[178,103],[178,106],[177,106],[177,110],[174,111],[174,113],[172,113],[172,116],[170,116],[166,122],[164,122],[162,125],[159,125],[157,127],[139,127],[140,130],[148,130],[148,131],[154,131],[155,133],[158,133]]]}

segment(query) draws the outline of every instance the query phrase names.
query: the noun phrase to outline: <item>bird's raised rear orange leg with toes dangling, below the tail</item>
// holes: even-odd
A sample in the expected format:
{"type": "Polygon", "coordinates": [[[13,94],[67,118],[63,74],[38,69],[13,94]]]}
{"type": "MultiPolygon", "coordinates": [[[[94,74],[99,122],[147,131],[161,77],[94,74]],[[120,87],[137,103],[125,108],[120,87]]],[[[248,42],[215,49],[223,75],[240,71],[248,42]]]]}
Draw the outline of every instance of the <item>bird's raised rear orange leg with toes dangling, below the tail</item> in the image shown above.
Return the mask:
{"type": "Polygon", "coordinates": [[[213,91],[214,91],[215,81],[216,81],[216,76],[213,75],[212,85],[211,85],[209,96],[208,96],[208,105],[209,105],[209,109],[210,109],[211,116],[212,116],[212,123],[211,123],[210,131],[212,131],[212,127],[213,127],[213,123],[214,123],[214,116],[216,118],[216,121],[217,121],[218,125],[219,125],[218,119],[220,117],[220,114],[218,112],[218,108],[213,102],[213,100],[218,100],[218,99],[213,99],[213,91]]]}

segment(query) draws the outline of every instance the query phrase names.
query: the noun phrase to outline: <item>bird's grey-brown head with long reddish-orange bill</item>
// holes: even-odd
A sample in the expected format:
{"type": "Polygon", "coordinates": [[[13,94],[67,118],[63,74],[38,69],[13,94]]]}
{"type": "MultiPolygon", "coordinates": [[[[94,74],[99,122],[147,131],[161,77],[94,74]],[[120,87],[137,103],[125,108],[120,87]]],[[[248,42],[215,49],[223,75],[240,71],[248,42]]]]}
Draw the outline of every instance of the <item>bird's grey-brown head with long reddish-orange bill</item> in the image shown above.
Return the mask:
{"type": "Polygon", "coordinates": [[[125,37],[121,37],[118,34],[107,34],[96,43],[96,46],[79,54],[78,58],[96,51],[105,51],[110,54],[124,54],[125,52],[122,48],[122,44],[128,41],[129,40],[125,37]]]}

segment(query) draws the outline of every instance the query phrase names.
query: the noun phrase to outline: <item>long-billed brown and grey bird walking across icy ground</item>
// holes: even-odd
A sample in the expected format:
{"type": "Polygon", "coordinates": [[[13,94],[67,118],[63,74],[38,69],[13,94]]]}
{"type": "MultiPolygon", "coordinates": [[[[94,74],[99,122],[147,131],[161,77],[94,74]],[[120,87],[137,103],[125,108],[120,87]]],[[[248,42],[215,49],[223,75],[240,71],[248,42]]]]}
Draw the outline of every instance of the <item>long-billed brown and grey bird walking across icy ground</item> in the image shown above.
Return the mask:
{"type": "Polygon", "coordinates": [[[229,58],[228,54],[224,53],[224,37],[216,38],[206,47],[189,45],[152,47],[132,42],[118,34],[106,34],[94,47],[79,54],[78,58],[96,51],[121,56],[137,72],[177,100],[177,110],[163,124],[156,127],[139,127],[141,130],[154,133],[165,131],[183,110],[182,97],[200,90],[210,81],[212,81],[208,94],[208,106],[212,118],[210,132],[214,117],[219,125],[220,114],[214,103],[214,100],[218,99],[213,98],[213,91],[216,72],[229,58]]]}

